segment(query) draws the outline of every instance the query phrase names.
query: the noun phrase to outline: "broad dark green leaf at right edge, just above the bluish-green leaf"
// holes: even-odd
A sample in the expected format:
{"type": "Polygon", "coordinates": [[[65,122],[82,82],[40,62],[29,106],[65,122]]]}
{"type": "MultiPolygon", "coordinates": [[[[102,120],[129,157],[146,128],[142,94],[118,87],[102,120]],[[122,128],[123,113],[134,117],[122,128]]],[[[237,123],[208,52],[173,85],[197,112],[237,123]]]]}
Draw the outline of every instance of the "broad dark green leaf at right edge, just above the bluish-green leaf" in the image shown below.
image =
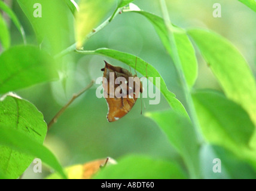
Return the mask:
{"type": "Polygon", "coordinates": [[[193,94],[203,134],[210,143],[226,148],[249,147],[254,124],[239,105],[215,91],[193,94]]]}

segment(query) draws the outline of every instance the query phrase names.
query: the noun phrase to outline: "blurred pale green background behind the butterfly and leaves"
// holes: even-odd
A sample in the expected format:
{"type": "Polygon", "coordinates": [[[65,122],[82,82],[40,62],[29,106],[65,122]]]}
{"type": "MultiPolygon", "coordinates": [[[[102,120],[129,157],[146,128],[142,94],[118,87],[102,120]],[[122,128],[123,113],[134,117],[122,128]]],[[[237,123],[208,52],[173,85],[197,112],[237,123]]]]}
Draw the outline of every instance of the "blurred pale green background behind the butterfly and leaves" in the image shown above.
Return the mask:
{"type": "MultiPolygon", "coordinates": [[[[6,2],[11,3],[14,12],[19,17],[25,28],[29,44],[36,44],[35,33],[19,4],[16,1],[6,2]]],[[[214,18],[212,5],[217,1],[167,0],[166,2],[173,24],[185,28],[203,27],[220,33],[245,56],[255,75],[256,14],[252,10],[239,1],[218,1],[222,6],[222,17],[214,18]]],[[[161,16],[159,1],[157,0],[136,0],[134,4],[142,10],[161,16]]],[[[66,22],[69,29],[67,29],[68,39],[65,43],[71,45],[75,41],[74,17],[68,11],[66,22]]],[[[110,15],[111,13],[108,16],[110,15]]],[[[11,39],[12,45],[22,44],[22,38],[13,24],[11,25],[11,39]]],[[[166,53],[153,26],[144,17],[136,13],[120,14],[112,23],[89,39],[84,50],[95,50],[103,47],[135,54],[148,61],[163,76],[169,90],[175,93],[186,106],[172,60],[166,53]]],[[[214,75],[202,57],[198,56],[197,58],[199,60],[199,77],[194,88],[220,90],[214,75]]],[[[72,97],[72,94],[86,87],[92,79],[102,76],[100,69],[104,66],[103,60],[107,60],[115,66],[129,68],[113,59],[72,53],[62,60],[61,81],[37,85],[16,91],[16,93],[35,104],[43,113],[45,121],[49,122],[72,97]]],[[[106,156],[118,159],[129,153],[175,159],[181,162],[178,153],[167,141],[160,128],[153,121],[140,114],[140,100],[124,118],[109,123],[106,120],[106,113],[108,112],[106,101],[104,98],[96,97],[96,88],[95,85],[81,98],[78,98],[60,116],[57,124],[53,125],[45,138],[45,145],[56,154],[63,166],[82,164],[106,156]]],[[[158,105],[148,104],[146,98],[144,101],[146,110],[143,110],[143,113],[169,109],[169,104],[162,96],[158,105]]],[[[23,178],[43,178],[48,174],[50,174],[50,170],[47,167],[44,167],[42,174],[35,174],[33,168],[30,167],[23,178]]]]}

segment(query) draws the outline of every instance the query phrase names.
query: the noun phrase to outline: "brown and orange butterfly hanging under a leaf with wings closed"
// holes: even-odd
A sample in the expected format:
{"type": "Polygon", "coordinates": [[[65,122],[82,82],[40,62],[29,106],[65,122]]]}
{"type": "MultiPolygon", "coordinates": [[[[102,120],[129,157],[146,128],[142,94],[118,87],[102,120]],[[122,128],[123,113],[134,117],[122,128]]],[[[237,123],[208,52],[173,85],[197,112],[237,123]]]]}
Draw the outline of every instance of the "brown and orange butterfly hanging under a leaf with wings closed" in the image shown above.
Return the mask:
{"type": "Polygon", "coordinates": [[[106,118],[108,122],[117,121],[134,106],[139,93],[143,91],[142,82],[137,75],[132,75],[122,67],[112,66],[106,61],[105,67],[101,70],[104,71],[102,86],[108,103],[106,118]]]}

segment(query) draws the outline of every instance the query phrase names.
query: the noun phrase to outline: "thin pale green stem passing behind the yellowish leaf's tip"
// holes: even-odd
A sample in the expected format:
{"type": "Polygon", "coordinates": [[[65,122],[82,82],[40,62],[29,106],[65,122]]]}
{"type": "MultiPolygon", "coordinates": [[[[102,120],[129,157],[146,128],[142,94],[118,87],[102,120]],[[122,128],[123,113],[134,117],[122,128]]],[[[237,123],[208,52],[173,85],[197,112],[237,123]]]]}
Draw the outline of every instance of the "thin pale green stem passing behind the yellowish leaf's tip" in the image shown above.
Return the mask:
{"type": "MultiPolygon", "coordinates": [[[[100,30],[102,30],[105,26],[107,26],[117,15],[118,13],[122,10],[123,8],[117,8],[115,9],[114,13],[112,14],[111,17],[108,17],[108,19],[106,19],[105,21],[103,21],[103,23],[101,23],[98,27],[96,27],[96,29],[93,29],[92,32],[90,32],[87,36],[86,39],[91,38],[93,35],[95,35],[96,33],[98,33],[100,30]]],[[[62,52],[60,52],[59,54],[57,54],[55,56],[55,58],[59,58],[59,57],[63,57],[66,54],[72,53],[73,51],[77,50],[77,43],[72,44],[70,47],[66,48],[65,50],[63,50],[62,52]]]]}

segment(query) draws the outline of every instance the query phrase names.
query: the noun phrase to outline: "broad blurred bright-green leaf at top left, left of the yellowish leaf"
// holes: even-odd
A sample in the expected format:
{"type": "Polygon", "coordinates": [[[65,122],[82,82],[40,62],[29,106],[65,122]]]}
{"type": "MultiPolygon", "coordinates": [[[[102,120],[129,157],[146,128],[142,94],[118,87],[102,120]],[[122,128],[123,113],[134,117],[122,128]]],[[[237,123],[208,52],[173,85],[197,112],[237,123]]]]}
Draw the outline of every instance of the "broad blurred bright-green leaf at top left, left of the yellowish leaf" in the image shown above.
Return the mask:
{"type": "Polygon", "coordinates": [[[17,0],[42,48],[54,54],[69,45],[68,7],[63,0],[17,0]]]}

